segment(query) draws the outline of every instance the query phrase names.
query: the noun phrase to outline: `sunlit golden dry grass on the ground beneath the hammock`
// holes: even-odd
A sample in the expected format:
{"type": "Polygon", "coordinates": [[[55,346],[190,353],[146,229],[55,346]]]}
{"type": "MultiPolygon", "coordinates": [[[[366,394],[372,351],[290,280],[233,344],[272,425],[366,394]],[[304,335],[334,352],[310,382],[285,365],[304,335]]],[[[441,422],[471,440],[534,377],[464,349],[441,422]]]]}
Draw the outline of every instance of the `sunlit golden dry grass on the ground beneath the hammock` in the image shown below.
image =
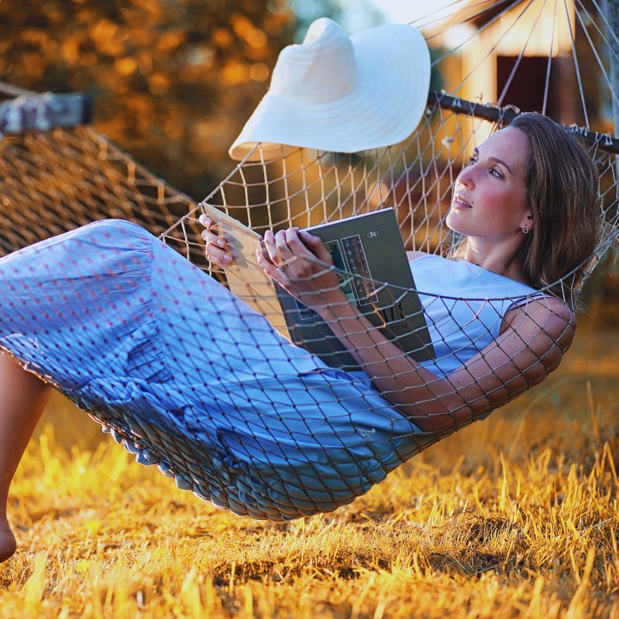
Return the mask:
{"type": "Polygon", "coordinates": [[[619,336],[579,336],[536,391],[287,524],[177,490],[56,398],[12,488],[0,616],[619,618],[619,336]]]}

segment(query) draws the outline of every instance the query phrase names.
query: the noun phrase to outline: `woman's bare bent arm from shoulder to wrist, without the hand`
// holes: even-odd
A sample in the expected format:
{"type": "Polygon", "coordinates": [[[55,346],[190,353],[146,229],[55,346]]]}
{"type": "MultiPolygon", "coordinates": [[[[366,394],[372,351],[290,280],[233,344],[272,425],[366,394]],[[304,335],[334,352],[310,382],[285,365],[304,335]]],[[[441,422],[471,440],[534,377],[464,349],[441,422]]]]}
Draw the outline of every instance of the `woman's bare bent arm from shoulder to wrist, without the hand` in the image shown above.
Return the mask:
{"type": "Polygon", "coordinates": [[[437,378],[404,356],[356,307],[338,305],[320,313],[383,395],[426,431],[479,417],[541,382],[558,367],[575,329],[572,312],[561,301],[532,301],[517,310],[495,342],[437,378]]]}

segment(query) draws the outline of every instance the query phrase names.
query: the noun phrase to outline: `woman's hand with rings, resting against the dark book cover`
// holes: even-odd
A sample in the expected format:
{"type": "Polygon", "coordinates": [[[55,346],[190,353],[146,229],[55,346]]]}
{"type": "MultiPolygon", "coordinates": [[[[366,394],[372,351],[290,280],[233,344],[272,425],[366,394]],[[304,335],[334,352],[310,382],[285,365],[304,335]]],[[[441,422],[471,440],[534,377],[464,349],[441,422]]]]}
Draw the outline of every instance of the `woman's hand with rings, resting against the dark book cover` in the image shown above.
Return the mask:
{"type": "Polygon", "coordinates": [[[321,314],[332,303],[347,303],[331,254],[320,237],[298,228],[276,234],[267,230],[264,245],[266,255],[256,252],[258,264],[305,307],[321,314]]]}

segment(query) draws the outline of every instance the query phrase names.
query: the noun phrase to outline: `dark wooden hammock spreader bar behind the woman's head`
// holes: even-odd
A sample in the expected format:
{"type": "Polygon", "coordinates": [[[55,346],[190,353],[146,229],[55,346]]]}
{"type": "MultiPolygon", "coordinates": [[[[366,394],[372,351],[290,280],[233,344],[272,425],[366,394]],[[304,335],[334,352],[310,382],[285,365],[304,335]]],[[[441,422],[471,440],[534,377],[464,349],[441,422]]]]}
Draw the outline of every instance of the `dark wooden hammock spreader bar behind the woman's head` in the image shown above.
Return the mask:
{"type": "MultiPolygon", "coordinates": [[[[459,97],[452,97],[443,92],[431,90],[428,94],[428,105],[439,105],[444,109],[450,109],[457,113],[468,114],[475,118],[483,118],[496,122],[501,127],[510,124],[514,118],[520,115],[520,111],[512,105],[499,107],[492,103],[475,103],[459,97]]],[[[619,139],[613,138],[610,133],[598,133],[589,131],[585,127],[578,127],[575,124],[563,124],[563,127],[570,133],[580,135],[587,144],[597,145],[598,149],[606,153],[619,155],[619,139]]]]}

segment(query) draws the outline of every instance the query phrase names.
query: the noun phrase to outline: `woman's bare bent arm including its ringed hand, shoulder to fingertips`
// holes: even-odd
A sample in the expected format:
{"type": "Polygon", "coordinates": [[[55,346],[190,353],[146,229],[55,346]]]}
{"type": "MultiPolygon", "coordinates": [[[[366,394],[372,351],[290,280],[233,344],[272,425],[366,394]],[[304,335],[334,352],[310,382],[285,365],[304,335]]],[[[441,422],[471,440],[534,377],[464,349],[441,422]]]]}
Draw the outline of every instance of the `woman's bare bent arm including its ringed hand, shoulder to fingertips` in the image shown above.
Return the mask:
{"type": "Polygon", "coordinates": [[[318,237],[298,230],[265,235],[265,272],[329,324],[376,387],[424,431],[442,431],[482,415],[541,382],[558,367],[574,336],[574,316],[554,298],[511,310],[497,340],[445,378],[420,366],[382,336],[339,289],[318,237]],[[303,242],[301,241],[303,239],[303,242]],[[305,259],[303,259],[305,258],[305,259]],[[284,270],[276,270],[285,265],[284,270]]]}

